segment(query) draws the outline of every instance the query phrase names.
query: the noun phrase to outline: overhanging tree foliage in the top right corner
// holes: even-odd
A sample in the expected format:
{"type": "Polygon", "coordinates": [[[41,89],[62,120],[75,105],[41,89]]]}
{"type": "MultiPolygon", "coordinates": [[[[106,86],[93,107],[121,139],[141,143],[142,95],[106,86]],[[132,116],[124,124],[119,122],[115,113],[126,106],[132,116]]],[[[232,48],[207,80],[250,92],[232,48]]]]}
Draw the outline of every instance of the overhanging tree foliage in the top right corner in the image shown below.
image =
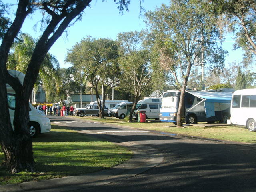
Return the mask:
{"type": "Polygon", "coordinates": [[[255,0],[213,0],[220,14],[223,26],[234,32],[234,48],[243,48],[246,58],[256,56],[256,1],[255,0]]]}

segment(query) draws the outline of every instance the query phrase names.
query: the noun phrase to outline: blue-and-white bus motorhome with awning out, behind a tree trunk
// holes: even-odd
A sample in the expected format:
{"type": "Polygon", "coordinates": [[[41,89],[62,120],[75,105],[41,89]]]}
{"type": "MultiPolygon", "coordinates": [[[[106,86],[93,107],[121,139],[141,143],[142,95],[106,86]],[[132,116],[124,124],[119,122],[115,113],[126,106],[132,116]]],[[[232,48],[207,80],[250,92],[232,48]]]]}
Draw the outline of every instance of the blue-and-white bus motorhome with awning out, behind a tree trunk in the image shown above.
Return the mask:
{"type": "MultiPolygon", "coordinates": [[[[226,123],[230,117],[232,89],[186,90],[184,98],[184,116],[186,124],[197,122],[226,123]]],[[[163,94],[159,119],[176,124],[180,91],[168,90],[163,94]]]]}

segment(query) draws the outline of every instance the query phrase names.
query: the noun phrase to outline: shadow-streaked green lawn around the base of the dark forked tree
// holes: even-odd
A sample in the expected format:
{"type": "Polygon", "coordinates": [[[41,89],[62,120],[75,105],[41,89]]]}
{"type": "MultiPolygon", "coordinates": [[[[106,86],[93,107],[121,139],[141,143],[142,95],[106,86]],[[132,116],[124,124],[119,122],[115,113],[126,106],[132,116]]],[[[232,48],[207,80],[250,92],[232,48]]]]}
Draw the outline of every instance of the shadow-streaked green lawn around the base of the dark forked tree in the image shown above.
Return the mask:
{"type": "MultiPolygon", "coordinates": [[[[33,138],[35,173],[9,174],[0,167],[0,185],[80,175],[111,168],[132,157],[132,152],[111,142],[61,126],[33,138]]],[[[0,162],[4,154],[0,152],[0,162]]]]}

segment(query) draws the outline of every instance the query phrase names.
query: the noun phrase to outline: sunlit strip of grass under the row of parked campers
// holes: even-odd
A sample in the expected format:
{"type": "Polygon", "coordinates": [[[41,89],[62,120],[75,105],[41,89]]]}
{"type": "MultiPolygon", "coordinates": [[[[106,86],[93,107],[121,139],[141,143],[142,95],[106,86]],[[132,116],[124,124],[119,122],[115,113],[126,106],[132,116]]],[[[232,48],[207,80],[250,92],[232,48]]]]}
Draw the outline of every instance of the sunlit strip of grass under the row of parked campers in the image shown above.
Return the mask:
{"type": "MultiPolygon", "coordinates": [[[[82,118],[82,117],[76,117],[82,118]]],[[[106,118],[100,119],[97,117],[83,117],[83,120],[95,121],[106,124],[116,124],[122,126],[129,126],[133,128],[146,129],[146,130],[156,130],[162,132],[170,132],[174,134],[184,134],[190,136],[199,136],[205,138],[214,138],[227,141],[236,141],[243,143],[256,143],[256,132],[249,132],[245,126],[212,126],[212,127],[199,127],[199,126],[185,126],[184,128],[169,127],[173,126],[172,122],[146,122],[130,123],[124,119],[118,118],[106,118]]],[[[202,124],[202,122],[200,122],[202,124]]]]}

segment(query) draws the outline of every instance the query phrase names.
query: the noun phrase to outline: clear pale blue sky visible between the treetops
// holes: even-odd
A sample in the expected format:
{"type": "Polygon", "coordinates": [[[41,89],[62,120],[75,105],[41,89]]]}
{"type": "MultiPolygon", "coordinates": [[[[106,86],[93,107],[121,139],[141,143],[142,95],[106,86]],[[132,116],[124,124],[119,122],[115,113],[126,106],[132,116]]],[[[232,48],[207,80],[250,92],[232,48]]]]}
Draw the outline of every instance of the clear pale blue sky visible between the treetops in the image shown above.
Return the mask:
{"type": "MultiPolygon", "coordinates": [[[[3,0],[8,3],[16,3],[16,0],[3,0]]],[[[144,0],[142,7],[148,10],[154,10],[161,4],[169,4],[170,0],[144,0]]],[[[124,11],[123,15],[119,14],[117,4],[113,0],[93,0],[90,8],[86,8],[82,21],[76,22],[68,28],[67,34],[63,34],[50,49],[50,53],[55,55],[60,62],[61,67],[71,66],[65,63],[65,57],[68,49],[71,49],[76,42],[88,35],[94,38],[112,38],[116,39],[119,32],[128,32],[134,30],[142,30],[146,27],[144,23],[143,13],[140,15],[139,0],[131,0],[129,12],[124,11]]],[[[35,13],[31,18],[27,18],[22,26],[22,32],[30,34],[33,38],[40,36],[40,23],[36,29],[34,25],[40,21],[40,12],[35,13]]],[[[223,47],[229,54],[226,56],[226,65],[230,62],[242,61],[242,51],[232,50],[234,40],[232,36],[228,36],[223,47]]]]}

